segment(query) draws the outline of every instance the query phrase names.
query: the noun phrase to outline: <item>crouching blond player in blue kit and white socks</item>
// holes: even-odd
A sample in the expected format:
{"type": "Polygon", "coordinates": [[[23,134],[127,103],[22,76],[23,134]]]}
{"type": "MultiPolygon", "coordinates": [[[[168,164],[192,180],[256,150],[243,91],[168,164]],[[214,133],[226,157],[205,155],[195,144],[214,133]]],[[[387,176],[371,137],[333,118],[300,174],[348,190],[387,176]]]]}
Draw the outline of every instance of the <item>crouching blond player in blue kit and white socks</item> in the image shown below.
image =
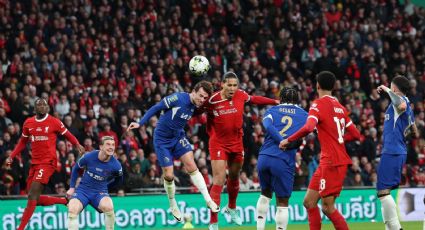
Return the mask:
{"type": "Polygon", "coordinates": [[[71,197],[68,203],[68,229],[78,229],[78,214],[88,204],[105,213],[105,229],[114,229],[114,205],[109,197],[108,187],[114,187],[123,179],[121,164],[113,157],[114,151],[114,138],[104,136],[100,142],[100,150],[86,153],[72,168],[70,188],[67,191],[67,195],[71,197]],[[84,174],[75,189],[80,169],[84,169],[84,174]]]}

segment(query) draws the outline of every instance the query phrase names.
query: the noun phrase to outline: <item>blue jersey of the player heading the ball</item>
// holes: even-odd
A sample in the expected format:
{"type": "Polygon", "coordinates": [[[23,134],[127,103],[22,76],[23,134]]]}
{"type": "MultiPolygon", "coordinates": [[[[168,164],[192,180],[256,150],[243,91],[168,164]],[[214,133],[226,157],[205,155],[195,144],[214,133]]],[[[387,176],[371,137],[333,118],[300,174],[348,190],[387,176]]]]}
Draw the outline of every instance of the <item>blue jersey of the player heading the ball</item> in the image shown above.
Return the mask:
{"type": "Polygon", "coordinates": [[[155,136],[175,137],[184,132],[184,127],[192,118],[195,109],[196,106],[191,102],[188,93],[174,93],[152,106],[139,124],[144,125],[153,115],[162,111],[155,128],[155,136]]]}

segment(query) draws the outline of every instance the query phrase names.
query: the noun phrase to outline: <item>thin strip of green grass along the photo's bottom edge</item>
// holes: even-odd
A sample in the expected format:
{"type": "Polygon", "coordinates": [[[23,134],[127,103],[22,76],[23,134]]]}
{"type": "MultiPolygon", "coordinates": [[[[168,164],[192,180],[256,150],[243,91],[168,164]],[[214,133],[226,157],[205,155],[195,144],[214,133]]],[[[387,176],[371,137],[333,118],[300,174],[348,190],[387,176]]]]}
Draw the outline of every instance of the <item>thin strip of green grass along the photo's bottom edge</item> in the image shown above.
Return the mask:
{"type": "MultiPolygon", "coordinates": [[[[403,230],[420,230],[423,229],[423,222],[402,222],[401,226],[403,230]]],[[[350,230],[380,230],[385,229],[384,224],[381,222],[377,223],[349,223],[348,227],[350,230]]],[[[175,228],[181,229],[181,228],[175,228]]],[[[195,230],[206,230],[208,228],[194,228],[195,230]]],[[[256,226],[229,226],[229,227],[221,227],[220,229],[235,229],[235,230],[255,230],[256,226]]],[[[276,227],[274,225],[268,225],[266,227],[267,230],[274,230],[276,227]]],[[[308,229],[307,224],[289,224],[288,230],[306,230],[308,229]]],[[[332,230],[334,229],[332,224],[323,224],[322,230],[332,230]]]]}

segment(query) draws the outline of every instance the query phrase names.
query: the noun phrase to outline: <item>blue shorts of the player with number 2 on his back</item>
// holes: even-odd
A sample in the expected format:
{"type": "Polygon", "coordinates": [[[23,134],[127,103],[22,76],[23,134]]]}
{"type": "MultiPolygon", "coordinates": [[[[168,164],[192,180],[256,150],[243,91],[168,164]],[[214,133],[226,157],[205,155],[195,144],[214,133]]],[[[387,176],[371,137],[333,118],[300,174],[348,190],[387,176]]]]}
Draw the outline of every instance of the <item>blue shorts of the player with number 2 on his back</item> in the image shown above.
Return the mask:
{"type": "Polygon", "coordinates": [[[283,159],[260,155],[257,169],[261,190],[270,189],[279,198],[291,197],[295,167],[291,167],[283,159]]]}

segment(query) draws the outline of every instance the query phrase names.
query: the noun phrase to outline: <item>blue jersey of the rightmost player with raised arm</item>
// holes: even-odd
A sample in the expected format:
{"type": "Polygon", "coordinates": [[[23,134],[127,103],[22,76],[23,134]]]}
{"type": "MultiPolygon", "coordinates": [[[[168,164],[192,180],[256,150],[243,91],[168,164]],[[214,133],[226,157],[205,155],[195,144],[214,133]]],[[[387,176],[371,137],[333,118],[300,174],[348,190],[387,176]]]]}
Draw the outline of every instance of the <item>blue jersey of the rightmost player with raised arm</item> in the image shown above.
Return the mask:
{"type": "Polygon", "coordinates": [[[415,118],[409,106],[409,99],[402,99],[407,104],[406,111],[399,113],[391,103],[385,112],[382,154],[407,154],[405,136],[415,118]]]}

